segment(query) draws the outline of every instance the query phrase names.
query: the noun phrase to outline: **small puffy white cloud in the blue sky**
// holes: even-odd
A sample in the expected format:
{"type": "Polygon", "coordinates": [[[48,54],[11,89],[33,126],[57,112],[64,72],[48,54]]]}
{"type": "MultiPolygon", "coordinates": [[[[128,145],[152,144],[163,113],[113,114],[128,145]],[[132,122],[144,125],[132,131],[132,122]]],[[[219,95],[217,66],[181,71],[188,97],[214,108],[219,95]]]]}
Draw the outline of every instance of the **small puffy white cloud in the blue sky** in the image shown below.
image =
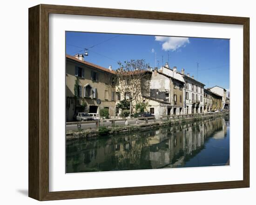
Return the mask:
{"type": "Polygon", "coordinates": [[[189,44],[189,38],[185,37],[165,37],[165,36],[155,36],[156,41],[161,41],[162,50],[164,51],[175,51],[180,47],[185,47],[189,44]]]}

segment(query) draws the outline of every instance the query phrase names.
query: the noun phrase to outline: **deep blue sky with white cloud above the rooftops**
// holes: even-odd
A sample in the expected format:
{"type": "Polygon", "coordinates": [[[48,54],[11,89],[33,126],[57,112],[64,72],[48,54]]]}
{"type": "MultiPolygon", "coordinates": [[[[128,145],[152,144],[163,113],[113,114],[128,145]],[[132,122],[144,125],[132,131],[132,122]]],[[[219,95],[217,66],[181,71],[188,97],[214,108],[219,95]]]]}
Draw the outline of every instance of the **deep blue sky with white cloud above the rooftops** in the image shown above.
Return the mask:
{"type": "Polygon", "coordinates": [[[158,67],[168,62],[194,75],[205,88],[218,85],[229,90],[229,39],[66,32],[67,54],[84,53],[84,48],[89,53],[86,61],[105,68],[116,69],[118,61],[130,59],[145,59],[155,67],[156,56],[158,67]]]}

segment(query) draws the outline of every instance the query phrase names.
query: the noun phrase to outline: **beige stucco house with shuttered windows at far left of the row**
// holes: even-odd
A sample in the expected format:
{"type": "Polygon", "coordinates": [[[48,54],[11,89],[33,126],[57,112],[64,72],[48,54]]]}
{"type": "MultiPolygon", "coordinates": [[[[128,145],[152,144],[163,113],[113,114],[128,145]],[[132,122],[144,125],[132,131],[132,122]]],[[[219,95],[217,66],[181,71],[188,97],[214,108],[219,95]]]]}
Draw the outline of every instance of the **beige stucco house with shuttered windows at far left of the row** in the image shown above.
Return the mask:
{"type": "Polygon", "coordinates": [[[114,72],[74,57],[67,56],[66,59],[67,121],[74,120],[77,112],[99,114],[103,108],[108,109],[109,116],[115,116],[114,72]],[[77,97],[74,90],[76,81],[77,97]],[[97,104],[97,99],[101,100],[100,105],[97,104]]]}

